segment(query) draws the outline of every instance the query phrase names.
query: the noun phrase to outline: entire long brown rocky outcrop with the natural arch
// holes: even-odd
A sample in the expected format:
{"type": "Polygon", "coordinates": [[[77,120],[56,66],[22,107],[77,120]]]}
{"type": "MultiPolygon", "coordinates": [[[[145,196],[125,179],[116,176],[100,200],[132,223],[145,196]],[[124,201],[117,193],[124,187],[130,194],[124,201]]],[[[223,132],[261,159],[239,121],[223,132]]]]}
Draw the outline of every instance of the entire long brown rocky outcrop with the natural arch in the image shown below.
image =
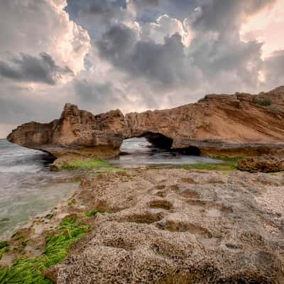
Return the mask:
{"type": "Polygon", "coordinates": [[[108,158],[119,153],[124,138],[138,136],[161,148],[198,148],[205,155],[268,154],[283,148],[283,101],[284,87],[278,87],[258,95],[209,94],[195,104],[125,116],[119,110],[93,115],[66,104],[60,119],[18,126],[8,140],[56,158],[108,158]]]}

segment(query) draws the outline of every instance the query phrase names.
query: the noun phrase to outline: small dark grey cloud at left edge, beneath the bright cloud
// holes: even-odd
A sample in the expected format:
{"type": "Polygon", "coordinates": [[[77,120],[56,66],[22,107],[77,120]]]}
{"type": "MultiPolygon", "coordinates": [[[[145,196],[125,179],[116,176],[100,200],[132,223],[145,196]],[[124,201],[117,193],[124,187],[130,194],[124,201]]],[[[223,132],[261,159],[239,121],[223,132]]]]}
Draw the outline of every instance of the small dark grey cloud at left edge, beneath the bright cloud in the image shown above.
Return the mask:
{"type": "Polygon", "coordinates": [[[40,53],[39,57],[21,54],[9,62],[0,61],[0,76],[15,81],[55,84],[66,74],[72,75],[72,70],[56,65],[48,53],[40,53]]]}

